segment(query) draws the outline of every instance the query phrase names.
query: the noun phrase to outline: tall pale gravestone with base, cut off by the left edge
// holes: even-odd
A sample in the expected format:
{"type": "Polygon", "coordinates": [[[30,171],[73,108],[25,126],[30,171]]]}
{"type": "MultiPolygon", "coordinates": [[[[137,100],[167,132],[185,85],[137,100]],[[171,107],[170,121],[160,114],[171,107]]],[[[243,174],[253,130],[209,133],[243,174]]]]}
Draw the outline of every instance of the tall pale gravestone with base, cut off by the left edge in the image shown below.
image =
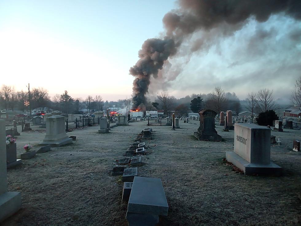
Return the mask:
{"type": "Polygon", "coordinates": [[[20,192],[7,192],[5,121],[0,119],[0,222],[17,212],[22,205],[20,192]]]}

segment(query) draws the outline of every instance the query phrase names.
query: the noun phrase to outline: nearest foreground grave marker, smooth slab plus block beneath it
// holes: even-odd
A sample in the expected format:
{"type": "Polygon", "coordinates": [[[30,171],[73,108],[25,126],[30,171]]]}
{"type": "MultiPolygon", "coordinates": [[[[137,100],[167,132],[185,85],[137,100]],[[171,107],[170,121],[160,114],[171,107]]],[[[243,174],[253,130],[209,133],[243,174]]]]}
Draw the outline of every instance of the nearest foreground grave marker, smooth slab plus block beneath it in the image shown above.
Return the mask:
{"type": "Polygon", "coordinates": [[[127,205],[127,221],[133,225],[158,223],[159,215],[167,216],[168,203],[159,178],[135,176],[127,205]]]}

